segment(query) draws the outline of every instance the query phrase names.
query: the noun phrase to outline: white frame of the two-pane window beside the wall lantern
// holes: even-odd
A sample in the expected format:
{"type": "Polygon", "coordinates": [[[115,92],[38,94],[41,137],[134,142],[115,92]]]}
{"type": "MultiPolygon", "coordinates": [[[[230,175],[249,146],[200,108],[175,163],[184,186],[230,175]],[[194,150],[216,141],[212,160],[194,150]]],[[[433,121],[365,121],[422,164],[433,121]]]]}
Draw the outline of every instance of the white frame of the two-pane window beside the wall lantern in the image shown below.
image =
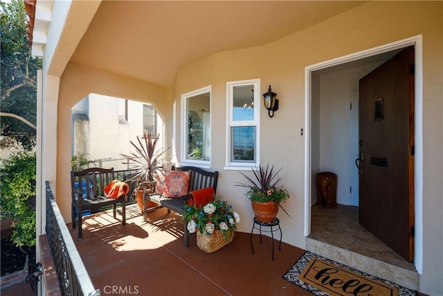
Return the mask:
{"type": "Polygon", "coordinates": [[[226,82],[226,166],[225,170],[251,170],[260,164],[260,79],[226,82]],[[251,121],[233,121],[233,89],[243,85],[254,87],[254,119],[251,121]],[[231,162],[231,128],[237,126],[255,126],[255,162],[231,162]]]}

